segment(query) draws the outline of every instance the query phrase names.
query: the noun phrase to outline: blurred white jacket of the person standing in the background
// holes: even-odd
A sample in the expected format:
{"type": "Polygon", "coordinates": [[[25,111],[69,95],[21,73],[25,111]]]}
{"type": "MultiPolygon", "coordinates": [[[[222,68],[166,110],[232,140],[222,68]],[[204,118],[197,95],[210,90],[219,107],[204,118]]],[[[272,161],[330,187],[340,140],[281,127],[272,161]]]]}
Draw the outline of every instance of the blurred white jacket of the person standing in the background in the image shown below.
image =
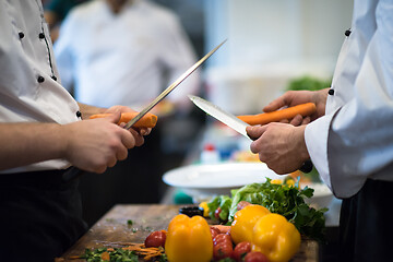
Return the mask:
{"type": "MultiPolygon", "coordinates": [[[[62,84],[74,85],[79,102],[136,110],[196,61],[177,16],[145,0],[129,1],[118,14],[105,0],[78,5],[61,25],[55,53],[62,84]]],[[[194,72],[167,99],[189,106],[186,95],[199,84],[194,72]]]]}

